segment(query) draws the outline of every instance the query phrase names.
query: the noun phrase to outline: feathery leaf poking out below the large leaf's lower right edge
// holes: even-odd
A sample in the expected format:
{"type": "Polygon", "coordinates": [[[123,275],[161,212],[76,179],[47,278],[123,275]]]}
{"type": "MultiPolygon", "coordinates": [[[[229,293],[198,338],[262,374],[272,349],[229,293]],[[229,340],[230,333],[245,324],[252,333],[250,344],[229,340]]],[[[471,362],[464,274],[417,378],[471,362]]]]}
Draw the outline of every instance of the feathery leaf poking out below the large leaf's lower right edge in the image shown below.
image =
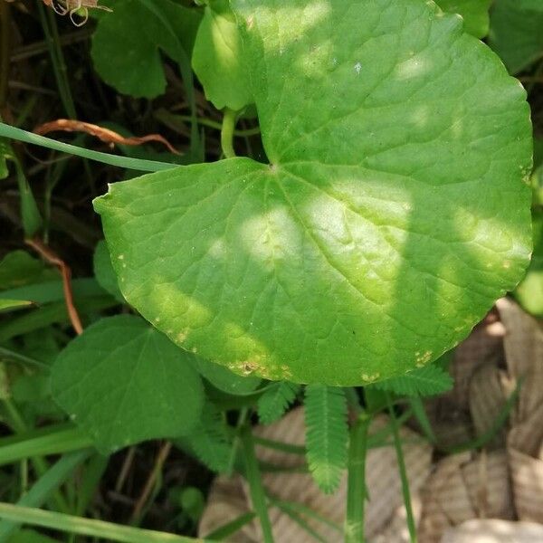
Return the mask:
{"type": "Polygon", "coordinates": [[[451,390],[452,377],[441,367],[429,364],[414,369],[405,376],[392,377],[374,386],[379,390],[394,392],[395,395],[439,395],[451,390]]]}

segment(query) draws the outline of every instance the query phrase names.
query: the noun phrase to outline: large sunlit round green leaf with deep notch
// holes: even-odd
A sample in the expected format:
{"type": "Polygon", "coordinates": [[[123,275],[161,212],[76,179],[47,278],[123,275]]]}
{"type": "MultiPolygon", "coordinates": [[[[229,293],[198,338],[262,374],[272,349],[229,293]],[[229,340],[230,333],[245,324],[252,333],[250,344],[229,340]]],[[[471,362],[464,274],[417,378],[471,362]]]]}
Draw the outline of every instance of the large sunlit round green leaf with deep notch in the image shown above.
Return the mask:
{"type": "Polygon", "coordinates": [[[271,165],[96,201],[120,289],[241,374],[357,385],[424,365],[530,252],[525,92],[422,0],[233,0],[271,165]]]}

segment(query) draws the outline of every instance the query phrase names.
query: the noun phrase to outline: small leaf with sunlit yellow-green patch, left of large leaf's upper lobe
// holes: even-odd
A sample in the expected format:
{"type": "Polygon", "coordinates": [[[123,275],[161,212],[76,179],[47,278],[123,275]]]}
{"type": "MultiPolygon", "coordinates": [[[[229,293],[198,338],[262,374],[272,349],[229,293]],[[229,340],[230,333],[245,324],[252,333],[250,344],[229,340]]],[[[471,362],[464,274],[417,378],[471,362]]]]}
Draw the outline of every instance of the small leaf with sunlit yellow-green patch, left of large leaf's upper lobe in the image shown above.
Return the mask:
{"type": "Polygon", "coordinates": [[[228,0],[212,0],[198,29],[192,65],[207,100],[218,110],[242,110],[252,103],[242,41],[228,0]]]}

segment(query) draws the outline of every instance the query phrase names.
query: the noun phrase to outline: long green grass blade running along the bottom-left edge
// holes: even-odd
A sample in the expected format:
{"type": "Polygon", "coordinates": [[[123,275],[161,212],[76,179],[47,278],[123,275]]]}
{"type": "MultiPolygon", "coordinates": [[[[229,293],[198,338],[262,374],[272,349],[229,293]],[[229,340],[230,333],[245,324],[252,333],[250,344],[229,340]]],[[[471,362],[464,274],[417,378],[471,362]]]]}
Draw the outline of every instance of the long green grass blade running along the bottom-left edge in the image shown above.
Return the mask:
{"type": "Polygon", "coordinates": [[[186,538],[167,532],[151,529],[138,529],[121,526],[103,520],[83,519],[72,515],[64,515],[53,511],[45,511],[30,507],[21,507],[11,503],[0,502],[0,518],[20,524],[40,526],[42,528],[71,532],[90,538],[110,539],[124,543],[199,543],[205,539],[186,538]]]}

